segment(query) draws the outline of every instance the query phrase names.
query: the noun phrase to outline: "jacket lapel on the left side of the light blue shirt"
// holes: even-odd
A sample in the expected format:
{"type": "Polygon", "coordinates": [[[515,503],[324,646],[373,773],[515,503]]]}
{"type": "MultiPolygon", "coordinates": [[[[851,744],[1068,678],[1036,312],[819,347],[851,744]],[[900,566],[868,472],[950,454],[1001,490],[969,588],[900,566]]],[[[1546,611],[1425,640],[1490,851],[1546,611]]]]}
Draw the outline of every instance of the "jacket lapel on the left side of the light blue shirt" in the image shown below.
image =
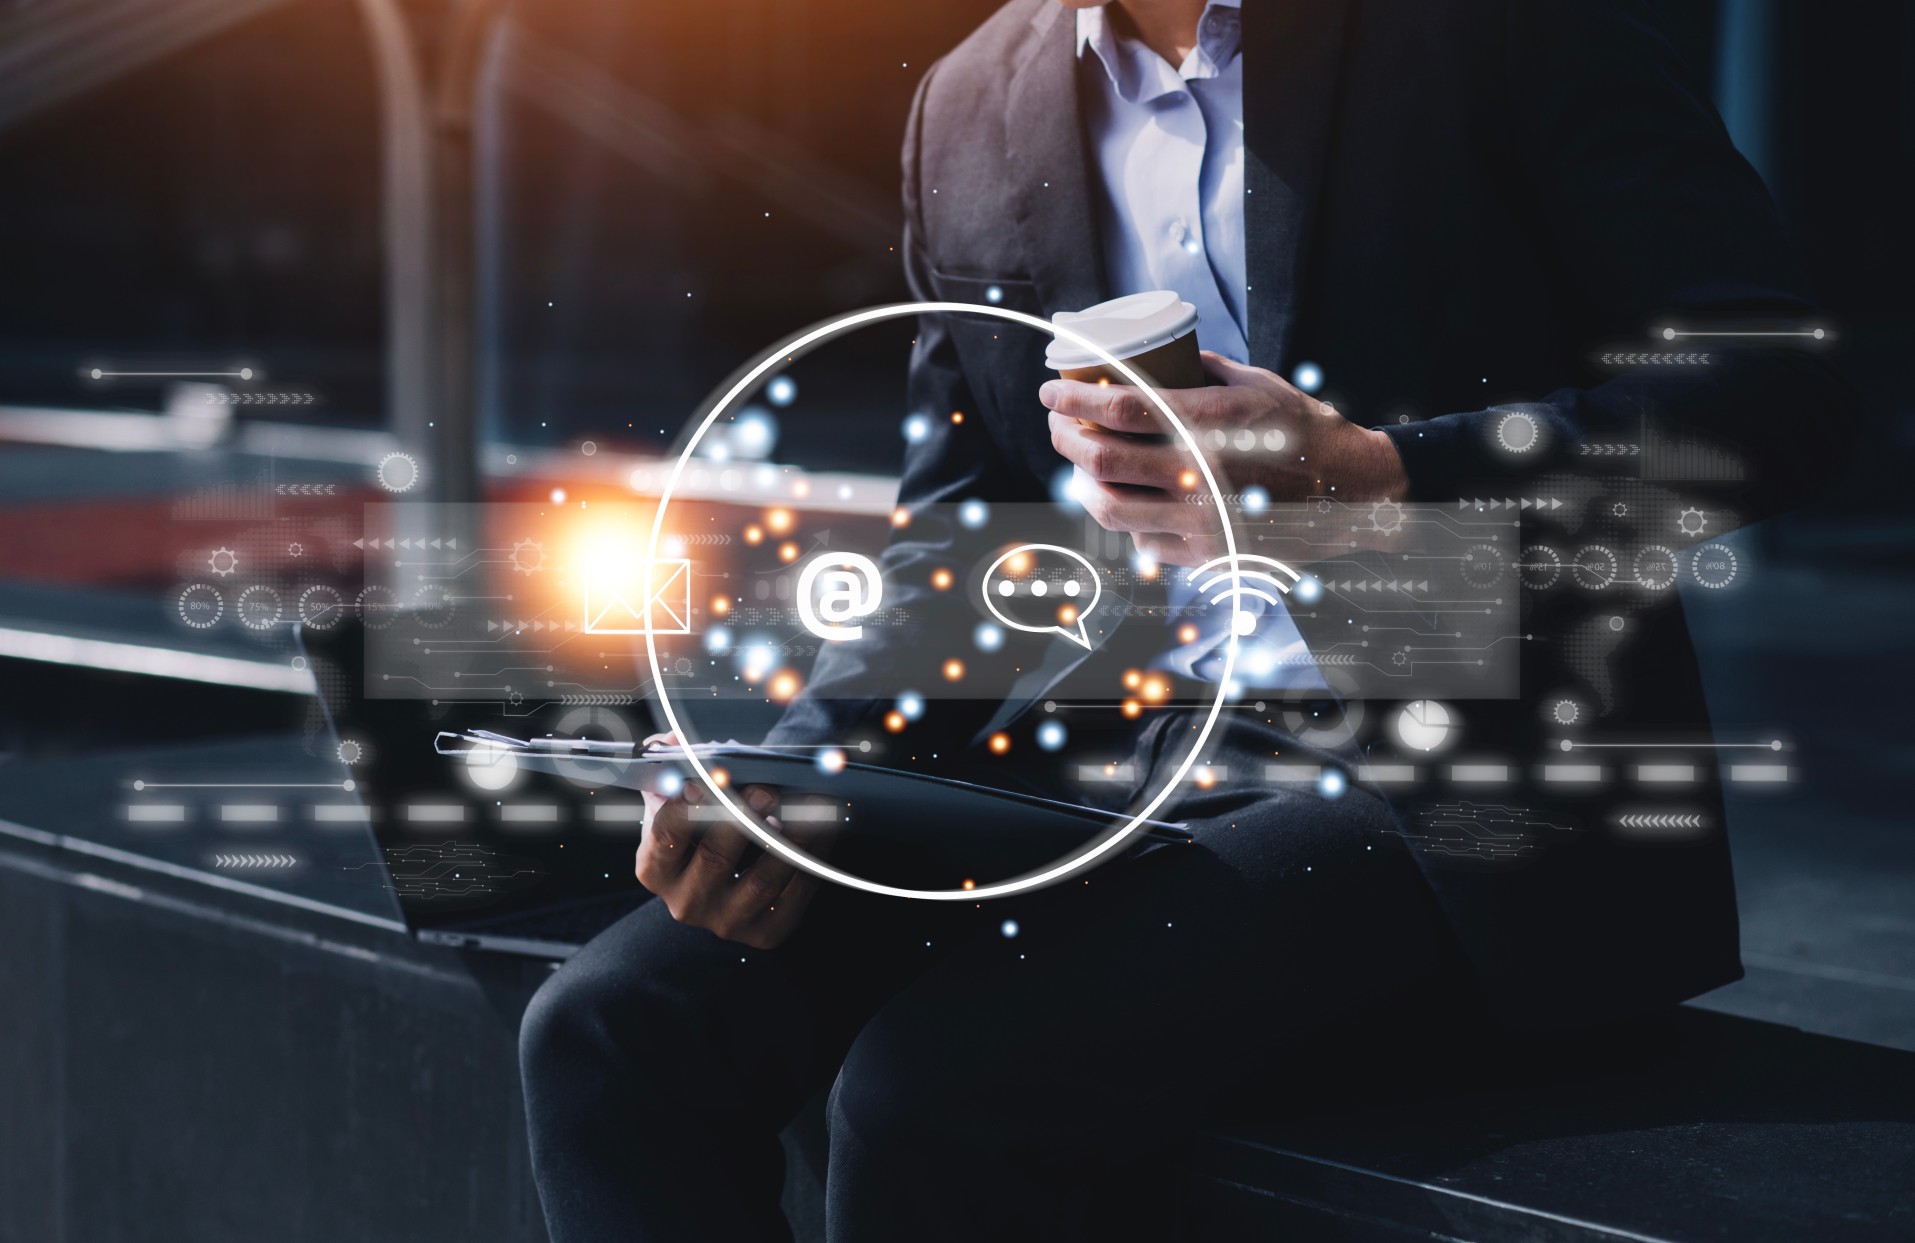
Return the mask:
{"type": "Polygon", "coordinates": [[[1103,249],[1078,102],[1076,21],[1061,4],[1046,4],[1030,19],[1005,92],[1003,140],[1011,216],[1044,314],[1101,303],[1103,249]]]}

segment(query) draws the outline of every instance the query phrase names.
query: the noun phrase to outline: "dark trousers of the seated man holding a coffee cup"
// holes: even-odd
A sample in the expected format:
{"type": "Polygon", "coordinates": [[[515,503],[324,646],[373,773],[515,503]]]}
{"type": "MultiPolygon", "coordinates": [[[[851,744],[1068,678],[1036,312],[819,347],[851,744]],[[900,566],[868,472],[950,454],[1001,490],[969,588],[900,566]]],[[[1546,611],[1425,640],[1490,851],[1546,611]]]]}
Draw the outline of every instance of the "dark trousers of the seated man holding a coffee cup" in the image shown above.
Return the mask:
{"type": "Polygon", "coordinates": [[[833,1241],[1082,1235],[1113,1170],[1314,1078],[1306,1044],[1463,988],[1383,802],[1275,789],[1275,751],[1306,757],[1233,728],[1195,845],[1036,894],[831,889],[770,952],[663,902],[607,929],[521,1036],[553,1241],[789,1237],[777,1134],[825,1084],[833,1241]]]}

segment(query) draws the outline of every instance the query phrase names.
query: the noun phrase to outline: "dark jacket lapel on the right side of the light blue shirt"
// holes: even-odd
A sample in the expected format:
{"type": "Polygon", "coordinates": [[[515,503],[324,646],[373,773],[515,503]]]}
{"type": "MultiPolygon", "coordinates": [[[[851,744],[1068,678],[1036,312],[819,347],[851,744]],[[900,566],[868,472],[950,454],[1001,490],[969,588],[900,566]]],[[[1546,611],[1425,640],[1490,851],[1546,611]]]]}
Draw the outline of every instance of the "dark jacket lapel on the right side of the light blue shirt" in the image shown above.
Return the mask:
{"type": "Polygon", "coordinates": [[[1243,6],[1243,232],[1250,362],[1287,372],[1354,0],[1243,6]]]}

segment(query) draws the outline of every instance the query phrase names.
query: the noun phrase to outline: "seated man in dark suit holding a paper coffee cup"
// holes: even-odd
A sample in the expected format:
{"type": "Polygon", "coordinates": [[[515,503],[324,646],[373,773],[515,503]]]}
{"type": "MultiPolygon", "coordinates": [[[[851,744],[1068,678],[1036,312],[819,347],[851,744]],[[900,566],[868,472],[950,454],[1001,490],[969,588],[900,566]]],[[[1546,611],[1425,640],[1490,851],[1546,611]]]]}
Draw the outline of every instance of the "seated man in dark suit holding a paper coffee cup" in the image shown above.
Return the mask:
{"type": "MultiPolygon", "coordinates": [[[[1588,469],[1609,458],[1580,450],[1651,421],[1741,463],[1679,496],[1714,532],[1815,492],[1846,456],[1850,402],[1814,349],[1597,362],[1664,324],[1812,318],[1760,182],[1624,4],[1250,0],[1239,38],[1224,0],[1092,17],[1013,0],[925,77],[904,201],[921,299],[1046,316],[1139,283],[1203,299],[1216,383],[1170,400],[1199,431],[1304,437],[1308,479],[1235,481],[1273,502],[1325,479],[1352,500],[1528,496],[1576,467],[1591,513],[1620,521],[1588,469]],[[1126,159],[1141,144],[1162,146],[1126,159]],[[1201,262],[1159,245],[1164,220],[1201,262]],[[1333,410],[1283,379],[1302,360],[1333,410]],[[1532,433],[1515,452],[1498,442],[1513,410],[1532,433]]],[[[1145,552],[1210,552],[1162,506],[1118,504],[1168,496],[1176,450],[1115,435],[1151,429],[1132,393],[1048,383],[1034,333],[927,316],[910,387],[912,408],[967,418],[910,452],[900,504],[921,521],[885,555],[887,601],[936,607],[927,567],[977,555],[942,506],[1042,502],[1065,462],[1145,552]]],[[[1534,776],[1536,695],[1555,688],[1582,688],[1609,735],[1706,734],[1674,592],[1632,613],[1601,670],[1576,655],[1609,586],[1526,601],[1542,642],[1522,647],[1524,697],[1469,705],[1473,741],[1522,774],[1501,797],[1568,829],[1515,868],[1427,848],[1417,795],[1237,780],[1180,797],[1195,847],[979,914],[820,891],[747,860],[737,833],[695,837],[699,791],[657,802],[638,873],[661,902],[586,946],[525,1023],[553,1237],[779,1237],[776,1136],[825,1084],[833,1239],[1065,1237],[1111,1170],[1281,1099],[1310,1038],[1565,1028],[1735,979],[1720,799],[1699,795],[1702,831],[1643,843],[1616,831],[1616,795],[1534,776]]],[[[827,655],[779,735],[845,737],[910,659],[827,655]]],[[[990,707],[927,714],[917,737],[963,747],[990,707]]],[[[1139,783],[1183,726],[1139,730],[1139,783]]],[[[1250,722],[1212,758],[1256,772],[1275,749],[1318,755],[1250,722]]]]}

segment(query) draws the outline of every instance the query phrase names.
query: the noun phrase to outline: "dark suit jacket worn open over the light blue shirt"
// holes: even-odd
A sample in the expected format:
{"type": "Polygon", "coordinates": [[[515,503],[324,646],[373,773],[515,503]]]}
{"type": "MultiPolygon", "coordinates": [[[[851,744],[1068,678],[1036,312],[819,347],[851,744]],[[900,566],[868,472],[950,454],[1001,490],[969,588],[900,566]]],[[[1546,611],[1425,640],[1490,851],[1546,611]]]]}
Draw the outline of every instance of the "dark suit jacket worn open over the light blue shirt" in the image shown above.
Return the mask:
{"type": "MultiPolygon", "coordinates": [[[[1568,0],[1249,0],[1243,13],[1250,362],[1321,364],[1350,418],[1396,441],[1413,498],[1528,496],[1593,460],[1591,439],[1704,437],[1746,462],[1685,498],[1760,517],[1825,486],[1846,456],[1850,396],[1810,350],[1714,349],[1712,366],[1616,372],[1607,345],[1662,324],[1800,324],[1775,211],[1660,34],[1620,4],[1568,0]],[[1492,404],[1532,402],[1545,442],[1492,446],[1492,404]],[[1398,423],[1400,412],[1415,416],[1398,423]],[[1712,492],[1714,490],[1714,492],[1712,492]]],[[[919,299],[1049,316],[1107,297],[1078,109],[1074,27],[1055,0],[1013,0],[925,77],[904,146],[906,264],[919,299]]],[[[933,419],[900,500],[1048,498],[1059,467],[1038,333],[927,318],[912,408],[933,419]]],[[[1637,345],[1637,349],[1647,349],[1637,345]]],[[[1626,463],[1632,465],[1632,463],[1626,463]]],[[[929,511],[927,511],[929,513],[929,511]]],[[[887,554],[912,607],[925,567],[965,565],[952,523],[913,523],[887,554]]],[[[1526,603],[1521,701],[1469,703],[1471,741],[1524,770],[1543,758],[1536,697],[1584,686],[1565,636],[1603,601],[1526,603]]],[[[1607,737],[1706,734],[1676,594],[1609,659],[1607,737]]],[[[827,653],[779,726],[843,737],[919,684],[912,651],[827,653]]],[[[980,712],[990,705],[980,705],[980,712]]],[[[952,716],[952,714],[946,714],[952,716]]],[[[940,728],[958,745],[977,722],[940,728]]],[[[935,745],[935,743],[921,743],[935,745]]],[[[1706,758],[1706,757],[1704,757],[1706,758]]],[[[1628,795],[1499,793],[1574,825],[1542,858],[1461,868],[1423,854],[1490,1000],[1561,1027],[1670,1004],[1741,975],[1722,808],[1710,831],[1645,845],[1614,831],[1628,795]]],[[[1413,824],[1417,795],[1398,812],[1413,824]]],[[[1411,833],[1413,839],[1413,833],[1411,833]]]]}

